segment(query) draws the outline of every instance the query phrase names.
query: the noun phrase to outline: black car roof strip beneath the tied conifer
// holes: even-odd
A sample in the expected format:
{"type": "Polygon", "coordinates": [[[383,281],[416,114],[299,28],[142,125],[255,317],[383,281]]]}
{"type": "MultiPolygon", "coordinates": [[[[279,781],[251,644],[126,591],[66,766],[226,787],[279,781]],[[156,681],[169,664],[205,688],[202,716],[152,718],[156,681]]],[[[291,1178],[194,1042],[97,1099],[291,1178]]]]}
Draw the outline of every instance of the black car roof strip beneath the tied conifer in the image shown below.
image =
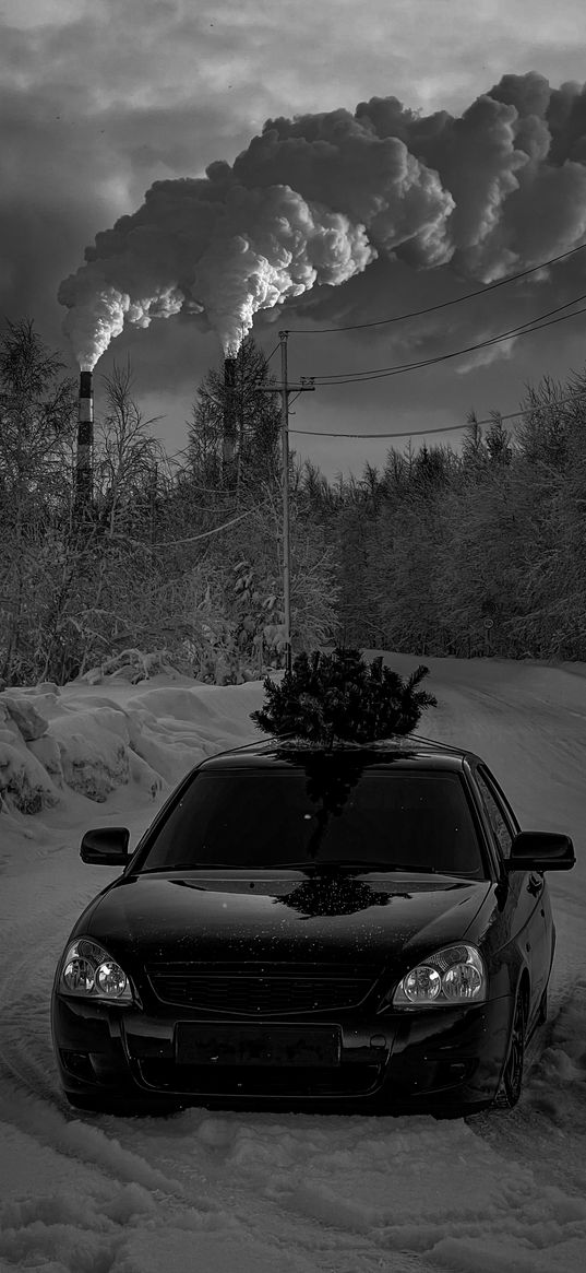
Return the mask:
{"type": "Polygon", "coordinates": [[[269,738],[208,756],[197,766],[197,770],[206,773],[234,771],[236,769],[254,770],[256,773],[303,770],[308,761],[317,756],[334,757],[341,768],[358,761],[362,768],[367,769],[388,770],[389,765],[393,764],[400,769],[435,769],[444,773],[459,771],[465,760],[477,761],[479,759],[467,749],[453,747],[449,743],[414,735],[385,738],[367,746],[337,742],[333,747],[304,742],[300,738],[269,738]]]}

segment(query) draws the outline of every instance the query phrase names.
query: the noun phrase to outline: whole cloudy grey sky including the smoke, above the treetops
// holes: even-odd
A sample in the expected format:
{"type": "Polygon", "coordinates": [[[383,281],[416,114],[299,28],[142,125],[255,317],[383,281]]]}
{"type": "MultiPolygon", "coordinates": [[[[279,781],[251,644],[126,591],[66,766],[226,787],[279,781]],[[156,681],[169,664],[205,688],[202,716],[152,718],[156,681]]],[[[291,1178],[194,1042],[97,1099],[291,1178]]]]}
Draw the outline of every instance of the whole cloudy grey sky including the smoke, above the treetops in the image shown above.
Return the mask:
{"type": "Polygon", "coordinates": [[[439,430],[583,369],[578,314],[343,383],[586,294],[586,251],[535,269],[586,243],[581,0],[0,0],[0,317],[34,320],[75,372],[106,297],[122,331],[95,367],[97,412],[100,377],[130,356],[179,451],[221,340],[253,321],[267,356],[291,332],[292,379],[318,377],[292,406],[297,456],[360,475],[409,433],[458,447],[461,429],[439,430]]]}

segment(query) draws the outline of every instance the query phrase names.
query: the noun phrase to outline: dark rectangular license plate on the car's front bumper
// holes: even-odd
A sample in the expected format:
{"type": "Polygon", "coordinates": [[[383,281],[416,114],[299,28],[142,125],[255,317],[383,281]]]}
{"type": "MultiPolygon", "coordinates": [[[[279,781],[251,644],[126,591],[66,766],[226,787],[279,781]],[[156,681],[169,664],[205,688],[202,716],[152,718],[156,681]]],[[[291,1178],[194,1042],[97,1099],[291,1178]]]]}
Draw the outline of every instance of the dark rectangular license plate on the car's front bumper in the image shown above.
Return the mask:
{"type": "Polygon", "coordinates": [[[179,1066],[339,1066],[336,1027],[220,1026],[181,1022],[179,1066]]]}

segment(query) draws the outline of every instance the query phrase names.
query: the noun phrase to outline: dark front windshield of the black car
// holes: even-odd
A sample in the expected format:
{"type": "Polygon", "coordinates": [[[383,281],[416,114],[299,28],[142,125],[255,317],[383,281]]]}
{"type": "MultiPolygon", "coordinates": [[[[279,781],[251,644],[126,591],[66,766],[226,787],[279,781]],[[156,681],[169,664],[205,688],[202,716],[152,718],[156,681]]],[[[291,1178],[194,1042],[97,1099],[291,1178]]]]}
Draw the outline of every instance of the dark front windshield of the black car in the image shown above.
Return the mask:
{"type": "Polygon", "coordinates": [[[200,770],[147,843],[139,871],[343,868],[484,878],[458,774],[200,770]]]}

